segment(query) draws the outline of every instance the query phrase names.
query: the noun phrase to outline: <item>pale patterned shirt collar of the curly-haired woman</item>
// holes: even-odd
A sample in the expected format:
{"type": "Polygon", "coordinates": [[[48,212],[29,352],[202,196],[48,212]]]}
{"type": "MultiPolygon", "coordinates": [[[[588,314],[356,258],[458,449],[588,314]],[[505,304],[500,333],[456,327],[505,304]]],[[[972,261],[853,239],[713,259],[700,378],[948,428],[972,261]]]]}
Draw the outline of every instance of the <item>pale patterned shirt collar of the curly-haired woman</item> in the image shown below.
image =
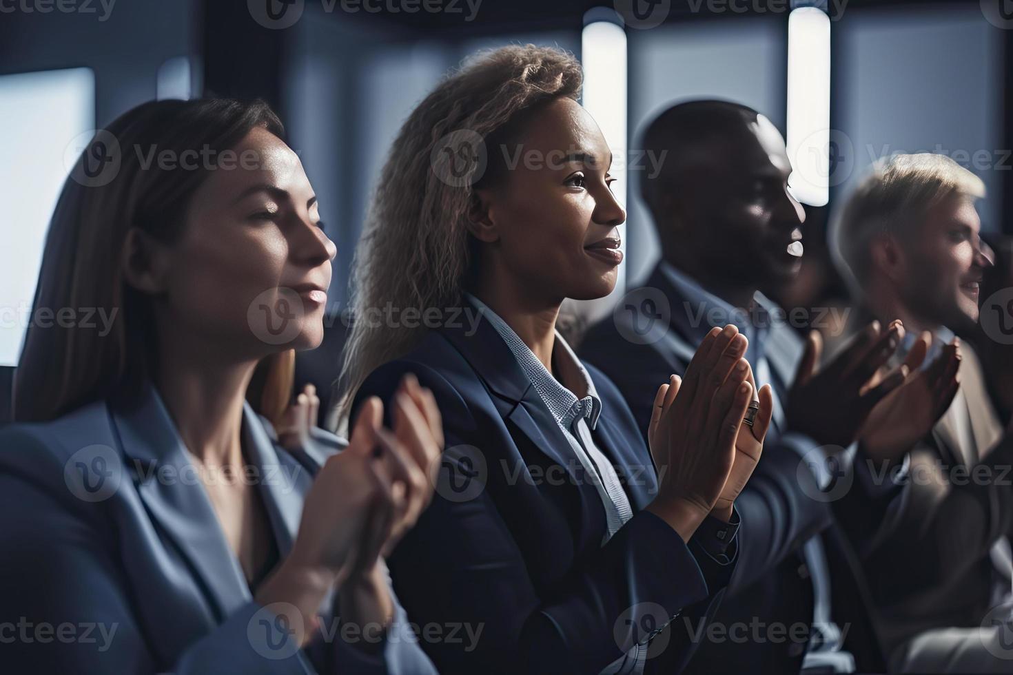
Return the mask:
{"type": "Polygon", "coordinates": [[[583,367],[559,331],[556,331],[555,345],[552,349],[552,363],[559,374],[559,379],[556,379],[499,315],[471,293],[466,292],[464,296],[492,324],[496,333],[510,347],[521,369],[542,397],[556,422],[568,429],[574,419],[582,417],[594,429],[602,413],[602,400],[588,369],[583,367]]]}

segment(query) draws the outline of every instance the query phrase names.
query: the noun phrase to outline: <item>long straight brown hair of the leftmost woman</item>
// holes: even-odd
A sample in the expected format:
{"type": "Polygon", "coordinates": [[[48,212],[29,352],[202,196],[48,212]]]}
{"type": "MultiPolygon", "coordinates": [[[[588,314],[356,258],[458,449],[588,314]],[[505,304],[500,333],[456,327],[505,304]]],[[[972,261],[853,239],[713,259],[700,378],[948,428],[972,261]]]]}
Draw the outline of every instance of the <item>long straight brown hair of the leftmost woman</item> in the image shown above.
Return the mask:
{"type": "Polygon", "coordinates": [[[124,280],[127,233],[140,228],[157,241],[176,241],[193,192],[214,167],[237,164],[222,153],[255,126],[284,138],[265,103],[231,99],[151,101],[96,132],[57,202],[31,316],[104,312],[98,316],[111,317],[111,329],[102,334],[94,320],[29,322],[14,376],[16,421],[52,420],[93,401],[137,395],[157,345],[150,299],[124,280]]]}

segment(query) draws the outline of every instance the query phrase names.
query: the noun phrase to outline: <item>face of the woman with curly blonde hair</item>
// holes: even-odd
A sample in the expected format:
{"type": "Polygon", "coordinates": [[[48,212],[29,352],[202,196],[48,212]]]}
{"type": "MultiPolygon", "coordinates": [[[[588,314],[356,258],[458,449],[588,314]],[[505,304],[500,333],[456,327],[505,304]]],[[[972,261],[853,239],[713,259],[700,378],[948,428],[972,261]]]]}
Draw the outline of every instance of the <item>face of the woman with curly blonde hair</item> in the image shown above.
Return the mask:
{"type": "MultiPolygon", "coordinates": [[[[533,298],[561,302],[607,296],[616,285],[619,226],[626,213],[612,193],[612,155],[591,114],[570,98],[534,110],[516,144],[488,148],[518,158],[479,187],[472,235],[482,265],[533,298]]],[[[503,161],[505,161],[503,159],[503,161]]]]}

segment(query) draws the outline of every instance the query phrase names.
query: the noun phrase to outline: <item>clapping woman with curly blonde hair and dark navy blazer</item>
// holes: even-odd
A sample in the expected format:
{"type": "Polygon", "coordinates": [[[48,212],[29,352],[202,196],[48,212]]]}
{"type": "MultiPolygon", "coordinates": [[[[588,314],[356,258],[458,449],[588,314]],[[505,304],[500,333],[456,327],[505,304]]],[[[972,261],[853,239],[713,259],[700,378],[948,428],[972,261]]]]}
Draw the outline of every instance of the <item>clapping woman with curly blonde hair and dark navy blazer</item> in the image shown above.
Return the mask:
{"type": "Polygon", "coordinates": [[[678,670],[685,634],[654,636],[715,608],[770,420],[761,392],[756,435],[738,433],[746,339],[715,331],[658,390],[652,462],[556,332],[564,299],[615,286],[626,218],[580,82],[533,46],[451,75],[394,142],[356,256],[353,417],[408,372],[443,415],[437,494],[389,559],[443,673],[678,670]]]}

